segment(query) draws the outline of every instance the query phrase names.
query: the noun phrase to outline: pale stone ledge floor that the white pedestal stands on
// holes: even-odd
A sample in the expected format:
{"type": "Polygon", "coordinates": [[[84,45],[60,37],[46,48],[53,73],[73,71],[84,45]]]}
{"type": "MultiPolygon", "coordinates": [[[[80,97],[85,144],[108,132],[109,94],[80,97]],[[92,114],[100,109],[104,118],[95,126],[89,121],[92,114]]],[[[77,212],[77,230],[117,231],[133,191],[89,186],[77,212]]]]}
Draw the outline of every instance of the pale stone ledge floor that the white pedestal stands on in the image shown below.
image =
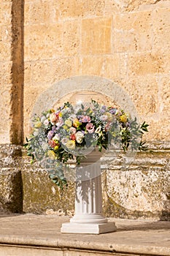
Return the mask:
{"type": "Polygon", "coordinates": [[[27,244],[132,255],[170,255],[170,222],[109,219],[109,222],[116,223],[117,231],[100,235],[61,234],[63,222],[69,222],[69,217],[0,215],[0,245],[27,244]]]}

